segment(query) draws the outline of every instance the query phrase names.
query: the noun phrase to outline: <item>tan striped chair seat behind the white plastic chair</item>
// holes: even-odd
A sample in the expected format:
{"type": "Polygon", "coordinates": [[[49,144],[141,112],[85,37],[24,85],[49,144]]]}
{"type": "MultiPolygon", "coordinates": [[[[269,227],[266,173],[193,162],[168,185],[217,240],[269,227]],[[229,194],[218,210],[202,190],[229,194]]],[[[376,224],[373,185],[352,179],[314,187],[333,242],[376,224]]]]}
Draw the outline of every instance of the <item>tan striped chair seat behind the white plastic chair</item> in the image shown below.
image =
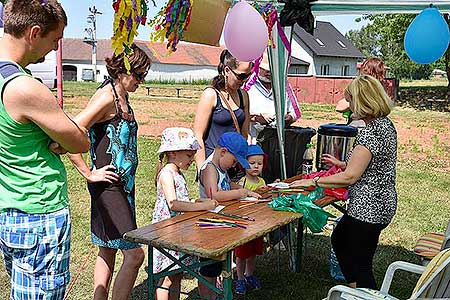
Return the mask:
{"type": "Polygon", "coordinates": [[[444,233],[427,233],[414,246],[414,253],[427,265],[439,251],[450,248],[450,220],[444,233]]]}

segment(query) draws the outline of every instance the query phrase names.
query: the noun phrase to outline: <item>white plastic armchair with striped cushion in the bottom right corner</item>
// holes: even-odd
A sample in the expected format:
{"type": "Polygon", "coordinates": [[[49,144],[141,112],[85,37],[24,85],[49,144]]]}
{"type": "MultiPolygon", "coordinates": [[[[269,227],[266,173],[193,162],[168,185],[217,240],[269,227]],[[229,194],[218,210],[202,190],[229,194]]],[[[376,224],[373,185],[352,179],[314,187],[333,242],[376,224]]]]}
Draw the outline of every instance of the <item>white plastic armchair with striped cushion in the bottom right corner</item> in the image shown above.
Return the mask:
{"type": "Polygon", "coordinates": [[[450,299],[450,249],[439,252],[425,267],[404,261],[396,261],[389,265],[380,291],[337,285],[328,292],[329,300],[394,300],[388,294],[396,270],[405,270],[420,276],[409,300],[414,299],[450,299]]]}

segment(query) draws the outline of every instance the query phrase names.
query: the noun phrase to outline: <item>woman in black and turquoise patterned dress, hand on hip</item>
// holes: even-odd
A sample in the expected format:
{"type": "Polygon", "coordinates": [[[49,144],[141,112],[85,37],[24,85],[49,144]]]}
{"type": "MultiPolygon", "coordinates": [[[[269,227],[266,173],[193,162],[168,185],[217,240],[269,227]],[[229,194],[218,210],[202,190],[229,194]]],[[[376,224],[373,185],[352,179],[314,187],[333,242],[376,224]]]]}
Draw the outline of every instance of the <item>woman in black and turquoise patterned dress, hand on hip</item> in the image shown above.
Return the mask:
{"type": "Polygon", "coordinates": [[[89,129],[89,168],[81,155],[70,155],[76,169],[87,179],[91,195],[91,239],[99,247],[94,269],[94,299],[108,299],[117,250],[123,262],[117,273],[112,299],[129,299],[144,251],[137,243],[122,238],[136,229],[134,203],[138,165],[137,122],[129,103],[151,66],[150,57],[135,44],[129,55],[130,72],[124,53],[106,59],[109,78],[98,88],[86,108],[75,118],[89,129]]]}

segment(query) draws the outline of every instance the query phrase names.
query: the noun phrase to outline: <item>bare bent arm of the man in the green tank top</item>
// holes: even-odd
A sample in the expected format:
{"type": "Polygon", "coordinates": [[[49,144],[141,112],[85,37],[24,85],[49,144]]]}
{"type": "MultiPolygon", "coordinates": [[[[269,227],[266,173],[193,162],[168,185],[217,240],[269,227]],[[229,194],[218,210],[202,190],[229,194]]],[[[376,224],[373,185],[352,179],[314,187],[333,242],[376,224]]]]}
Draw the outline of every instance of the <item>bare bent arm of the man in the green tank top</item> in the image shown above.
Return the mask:
{"type": "Polygon", "coordinates": [[[19,123],[35,123],[70,153],[89,150],[87,130],[71,120],[58,106],[50,90],[37,80],[19,76],[3,91],[8,114],[19,123]]]}

